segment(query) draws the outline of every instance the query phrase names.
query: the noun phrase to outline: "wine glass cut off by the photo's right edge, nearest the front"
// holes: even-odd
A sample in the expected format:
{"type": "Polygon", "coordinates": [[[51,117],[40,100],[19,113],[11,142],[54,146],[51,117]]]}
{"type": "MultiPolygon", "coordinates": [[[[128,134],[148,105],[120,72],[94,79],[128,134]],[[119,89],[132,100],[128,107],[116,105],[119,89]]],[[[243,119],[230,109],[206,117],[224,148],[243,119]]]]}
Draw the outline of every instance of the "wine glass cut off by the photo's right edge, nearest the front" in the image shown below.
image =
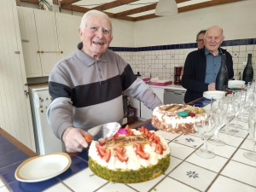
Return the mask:
{"type": "Polygon", "coordinates": [[[248,128],[249,128],[249,136],[253,141],[253,153],[245,152],[243,155],[248,160],[256,161],[256,109],[255,108],[250,108],[249,110],[248,128]]]}

